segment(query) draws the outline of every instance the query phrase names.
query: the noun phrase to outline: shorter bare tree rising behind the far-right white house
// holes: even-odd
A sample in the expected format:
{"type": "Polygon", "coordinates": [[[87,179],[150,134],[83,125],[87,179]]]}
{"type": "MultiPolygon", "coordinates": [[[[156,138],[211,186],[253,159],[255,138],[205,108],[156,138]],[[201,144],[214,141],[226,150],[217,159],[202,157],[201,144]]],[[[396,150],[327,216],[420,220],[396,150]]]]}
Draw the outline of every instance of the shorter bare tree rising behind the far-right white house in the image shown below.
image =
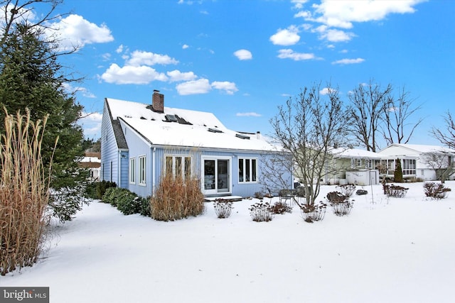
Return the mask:
{"type": "Polygon", "coordinates": [[[410,92],[406,92],[404,87],[400,89],[396,98],[392,91],[389,93],[387,106],[384,108],[382,117],[384,121],[382,136],[384,136],[387,145],[408,143],[417,126],[422,123],[423,118],[408,123],[410,117],[421,109],[421,106],[414,107],[413,105],[414,99],[410,99],[410,92]]]}

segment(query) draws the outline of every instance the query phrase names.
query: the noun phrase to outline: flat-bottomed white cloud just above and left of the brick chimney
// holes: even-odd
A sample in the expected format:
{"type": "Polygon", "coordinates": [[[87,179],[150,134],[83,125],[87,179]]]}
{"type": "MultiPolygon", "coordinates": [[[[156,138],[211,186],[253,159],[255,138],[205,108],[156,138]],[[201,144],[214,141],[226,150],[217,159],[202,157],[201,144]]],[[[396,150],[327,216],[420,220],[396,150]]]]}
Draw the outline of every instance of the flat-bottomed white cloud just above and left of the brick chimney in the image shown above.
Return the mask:
{"type": "Polygon", "coordinates": [[[152,81],[167,81],[168,77],[148,66],[124,66],[112,64],[101,75],[107,83],[114,84],[149,84],[152,81]]]}

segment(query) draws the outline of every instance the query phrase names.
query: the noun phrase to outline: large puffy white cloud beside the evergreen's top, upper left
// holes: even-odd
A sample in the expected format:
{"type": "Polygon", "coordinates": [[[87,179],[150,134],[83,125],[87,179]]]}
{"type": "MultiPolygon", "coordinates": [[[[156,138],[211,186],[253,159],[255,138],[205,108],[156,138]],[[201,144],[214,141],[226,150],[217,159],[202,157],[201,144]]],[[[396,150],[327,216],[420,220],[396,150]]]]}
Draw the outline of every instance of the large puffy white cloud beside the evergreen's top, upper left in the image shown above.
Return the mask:
{"type": "Polygon", "coordinates": [[[114,40],[105,24],[97,26],[79,15],[70,15],[50,25],[48,35],[56,33],[60,38],[60,48],[71,50],[92,43],[107,43],[114,40]]]}

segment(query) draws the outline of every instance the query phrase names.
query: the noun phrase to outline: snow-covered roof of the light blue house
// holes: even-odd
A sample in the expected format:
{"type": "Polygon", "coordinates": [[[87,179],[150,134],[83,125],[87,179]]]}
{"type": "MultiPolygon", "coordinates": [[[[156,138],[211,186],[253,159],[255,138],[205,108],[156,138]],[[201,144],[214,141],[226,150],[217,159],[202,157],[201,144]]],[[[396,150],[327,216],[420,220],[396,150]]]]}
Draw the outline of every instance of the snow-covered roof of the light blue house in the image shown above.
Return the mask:
{"type": "Polygon", "coordinates": [[[257,133],[226,128],[214,114],[164,106],[164,113],[150,104],[106,99],[112,119],[133,128],[153,145],[222,148],[230,150],[273,150],[274,146],[257,133]],[[259,137],[259,138],[258,138],[259,137]]]}

